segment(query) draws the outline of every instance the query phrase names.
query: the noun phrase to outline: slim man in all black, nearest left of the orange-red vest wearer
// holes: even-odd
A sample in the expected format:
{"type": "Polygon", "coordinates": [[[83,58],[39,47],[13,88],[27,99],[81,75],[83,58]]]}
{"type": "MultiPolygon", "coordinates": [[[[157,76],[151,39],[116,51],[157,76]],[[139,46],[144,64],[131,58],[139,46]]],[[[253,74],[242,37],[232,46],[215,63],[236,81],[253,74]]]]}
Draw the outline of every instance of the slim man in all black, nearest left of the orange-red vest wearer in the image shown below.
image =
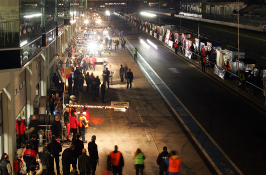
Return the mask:
{"type": "Polygon", "coordinates": [[[91,141],[88,143],[88,151],[91,159],[92,175],[95,174],[97,163],[99,162],[98,146],[95,143],[96,136],[91,136],[91,141]]]}

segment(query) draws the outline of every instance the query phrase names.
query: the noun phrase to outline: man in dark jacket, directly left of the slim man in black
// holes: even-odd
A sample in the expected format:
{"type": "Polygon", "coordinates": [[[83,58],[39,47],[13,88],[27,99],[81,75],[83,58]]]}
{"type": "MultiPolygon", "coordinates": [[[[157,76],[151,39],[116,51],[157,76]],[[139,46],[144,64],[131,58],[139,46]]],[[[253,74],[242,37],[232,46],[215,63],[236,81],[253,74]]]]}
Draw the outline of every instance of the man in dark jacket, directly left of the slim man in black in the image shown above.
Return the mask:
{"type": "Polygon", "coordinates": [[[80,175],[90,174],[90,166],[90,157],[87,155],[87,150],[83,148],[82,154],[78,157],[78,169],[80,175]]]}

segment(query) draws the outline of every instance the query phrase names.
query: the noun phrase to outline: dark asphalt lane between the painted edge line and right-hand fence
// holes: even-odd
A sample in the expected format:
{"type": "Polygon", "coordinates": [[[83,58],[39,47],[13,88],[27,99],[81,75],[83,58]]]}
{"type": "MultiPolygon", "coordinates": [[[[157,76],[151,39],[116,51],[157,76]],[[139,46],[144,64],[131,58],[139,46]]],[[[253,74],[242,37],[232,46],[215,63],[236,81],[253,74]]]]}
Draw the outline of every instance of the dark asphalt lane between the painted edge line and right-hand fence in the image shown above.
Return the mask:
{"type": "Polygon", "coordinates": [[[152,40],[151,36],[140,31],[132,34],[131,25],[111,17],[237,167],[244,174],[266,174],[265,111],[156,41],[158,49],[146,48],[139,36],[152,40]]]}

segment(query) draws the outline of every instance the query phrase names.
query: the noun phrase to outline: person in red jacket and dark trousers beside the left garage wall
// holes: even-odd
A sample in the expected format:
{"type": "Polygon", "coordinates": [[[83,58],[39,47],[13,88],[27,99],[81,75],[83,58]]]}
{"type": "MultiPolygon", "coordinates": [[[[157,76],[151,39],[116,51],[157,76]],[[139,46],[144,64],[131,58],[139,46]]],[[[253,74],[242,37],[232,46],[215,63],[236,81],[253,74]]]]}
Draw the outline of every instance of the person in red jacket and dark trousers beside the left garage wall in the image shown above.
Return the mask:
{"type": "Polygon", "coordinates": [[[16,131],[17,134],[19,135],[19,139],[18,139],[18,145],[23,145],[25,146],[26,144],[26,123],[25,120],[21,118],[21,116],[18,117],[18,119],[16,120],[16,131]]]}

